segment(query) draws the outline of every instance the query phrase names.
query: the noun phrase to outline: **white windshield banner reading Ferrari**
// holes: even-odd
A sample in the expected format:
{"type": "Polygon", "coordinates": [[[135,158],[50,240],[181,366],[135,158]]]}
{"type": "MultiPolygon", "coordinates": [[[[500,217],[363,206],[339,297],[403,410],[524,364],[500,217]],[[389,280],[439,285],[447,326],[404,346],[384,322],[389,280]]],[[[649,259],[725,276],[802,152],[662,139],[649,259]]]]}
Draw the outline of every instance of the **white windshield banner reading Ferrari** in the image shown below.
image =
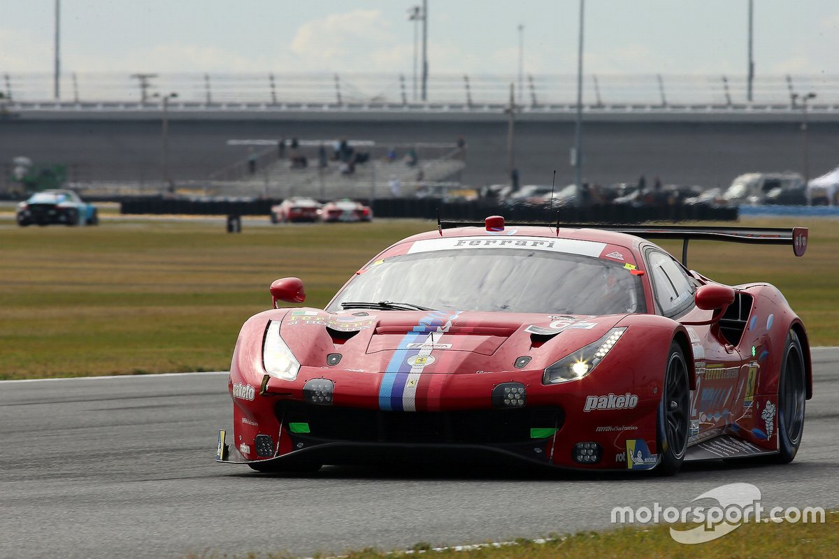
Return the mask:
{"type": "Polygon", "coordinates": [[[450,237],[416,241],[408,254],[417,252],[451,251],[461,248],[512,248],[525,251],[564,252],[597,258],[601,255],[605,243],[595,241],[576,241],[575,239],[551,239],[550,237],[515,236],[503,239],[498,236],[450,237]]]}

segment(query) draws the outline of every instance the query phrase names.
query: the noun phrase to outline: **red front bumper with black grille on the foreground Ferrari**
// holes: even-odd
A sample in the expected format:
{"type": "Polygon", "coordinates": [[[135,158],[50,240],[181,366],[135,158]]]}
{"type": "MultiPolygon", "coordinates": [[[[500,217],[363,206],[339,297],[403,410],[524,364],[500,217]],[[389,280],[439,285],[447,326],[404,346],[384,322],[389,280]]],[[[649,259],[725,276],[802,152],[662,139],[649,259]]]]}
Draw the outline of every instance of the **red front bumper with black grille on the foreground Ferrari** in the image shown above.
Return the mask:
{"type": "MultiPolygon", "coordinates": [[[[511,380],[509,374],[440,375],[436,406],[426,402],[421,408],[418,403],[420,411],[390,411],[378,406],[381,375],[375,374],[336,382],[331,406],[305,401],[305,382],[322,375],[323,370],[304,368],[294,382],[263,379],[262,386],[254,387],[253,401],[234,397],[234,438],[217,461],[294,465],[513,460],[603,471],[628,468],[629,440],[643,441],[655,453],[656,397],[639,400],[632,410],[584,411],[587,395],[602,393],[602,388],[585,381],[544,386],[541,371],[522,371],[515,380],[528,387],[527,405],[498,408],[489,394],[493,386],[511,380]],[[585,443],[597,448],[598,458],[591,463],[577,459],[579,445],[585,443]]],[[[638,386],[626,390],[641,392],[638,386]]]]}

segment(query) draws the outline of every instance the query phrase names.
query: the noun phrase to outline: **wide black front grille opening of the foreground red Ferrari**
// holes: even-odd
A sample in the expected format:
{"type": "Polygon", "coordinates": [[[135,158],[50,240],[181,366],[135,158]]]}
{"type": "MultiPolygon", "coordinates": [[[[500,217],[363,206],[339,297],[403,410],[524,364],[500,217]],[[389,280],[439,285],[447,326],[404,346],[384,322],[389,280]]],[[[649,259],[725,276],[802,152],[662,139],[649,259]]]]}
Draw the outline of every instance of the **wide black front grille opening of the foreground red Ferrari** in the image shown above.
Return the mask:
{"type": "Polygon", "coordinates": [[[560,408],[377,411],[282,401],[277,417],[309,424],[307,436],[352,443],[503,444],[531,440],[531,429],[562,427],[560,408]]]}

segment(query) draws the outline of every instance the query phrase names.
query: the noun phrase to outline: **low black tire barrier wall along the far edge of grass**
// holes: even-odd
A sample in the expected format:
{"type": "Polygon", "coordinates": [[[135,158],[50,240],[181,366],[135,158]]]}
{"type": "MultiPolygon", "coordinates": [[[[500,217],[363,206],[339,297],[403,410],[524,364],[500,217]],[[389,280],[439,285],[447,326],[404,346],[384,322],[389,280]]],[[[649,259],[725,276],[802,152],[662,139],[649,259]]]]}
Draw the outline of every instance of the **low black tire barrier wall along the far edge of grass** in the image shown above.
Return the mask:
{"type": "MultiPolygon", "coordinates": [[[[269,215],[271,206],[280,199],[179,199],[133,198],[122,199],[121,213],[125,215],[269,215]]],[[[366,200],[361,200],[367,204],[366,200]]],[[[446,202],[436,198],[377,199],[373,201],[373,215],[390,218],[420,218],[436,220],[437,210],[442,220],[480,221],[487,215],[503,215],[508,221],[548,222],[557,219],[565,223],[620,223],[645,221],[733,221],[736,207],[706,205],[631,206],[618,204],[591,205],[585,208],[564,206],[549,208],[516,205],[504,206],[485,201],[446,202]]]]}

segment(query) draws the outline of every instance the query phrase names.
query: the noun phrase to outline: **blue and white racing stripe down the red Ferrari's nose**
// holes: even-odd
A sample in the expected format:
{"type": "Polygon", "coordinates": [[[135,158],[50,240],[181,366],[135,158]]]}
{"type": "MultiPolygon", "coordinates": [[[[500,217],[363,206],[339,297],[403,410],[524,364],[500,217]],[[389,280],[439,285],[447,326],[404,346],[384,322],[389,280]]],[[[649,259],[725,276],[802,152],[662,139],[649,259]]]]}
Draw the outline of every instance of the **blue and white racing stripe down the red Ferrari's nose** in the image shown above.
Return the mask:
{"type": "Polygon", "coordinates": [[[408,334],[405,334],[399,346],[393,351],[387,369],[385,369],[382,385],[378,392],[378,406],[383,411],[415,411],[416,387],[419,384],[423,366],[412,367],[408,364],[408,358],[414,355],[430,355],[431,349],[408,349],[409,344],[430,341],[432,333],[443,331],[445,326],[451,326],[451,320],[459,313],[443,313],[431,311],[420,323],[414,326],[408,334]],[[412,382],[409,383],[409,378],[412,382]],[[406,406],[406,400],[408,405],[406,406]]]}

